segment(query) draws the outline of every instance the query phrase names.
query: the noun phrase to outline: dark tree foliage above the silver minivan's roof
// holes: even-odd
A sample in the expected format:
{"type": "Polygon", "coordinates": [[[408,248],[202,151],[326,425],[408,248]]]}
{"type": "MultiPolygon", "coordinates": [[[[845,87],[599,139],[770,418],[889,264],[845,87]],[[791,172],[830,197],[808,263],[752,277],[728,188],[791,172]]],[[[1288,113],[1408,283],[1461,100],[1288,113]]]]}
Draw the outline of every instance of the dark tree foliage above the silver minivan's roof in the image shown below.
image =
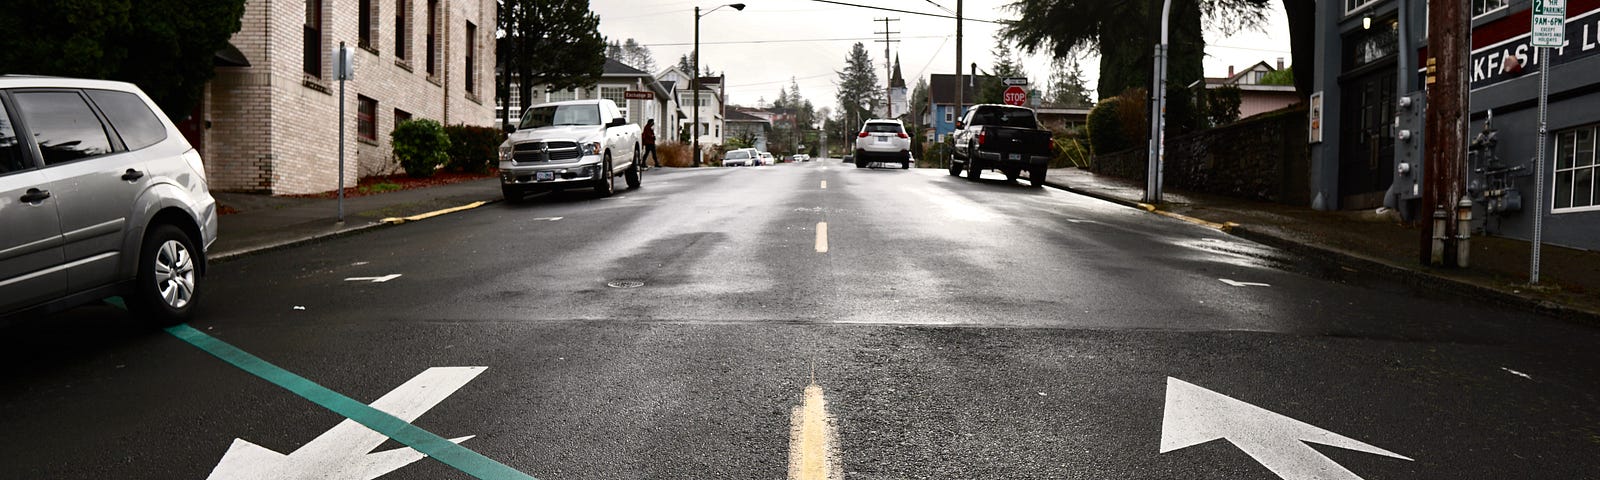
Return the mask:
{"type": "Polygon", "coordinates": [[[198,104],[216,51],[243,14],[243,0],[6,2],[0,74],[128,82],[181,120],[198,104]]]}

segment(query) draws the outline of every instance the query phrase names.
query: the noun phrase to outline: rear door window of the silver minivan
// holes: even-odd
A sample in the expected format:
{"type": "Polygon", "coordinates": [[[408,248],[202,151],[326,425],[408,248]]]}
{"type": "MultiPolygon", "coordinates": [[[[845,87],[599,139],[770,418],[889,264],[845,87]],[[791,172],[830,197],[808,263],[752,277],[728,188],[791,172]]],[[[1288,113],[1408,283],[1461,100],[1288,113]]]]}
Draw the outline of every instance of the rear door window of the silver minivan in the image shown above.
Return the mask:
{"type": "Polygon", "coordinates": [[[11,98],[34,133],[45,165],[110,154],[106,126],[78,93],[19,91],[11,98]]]}

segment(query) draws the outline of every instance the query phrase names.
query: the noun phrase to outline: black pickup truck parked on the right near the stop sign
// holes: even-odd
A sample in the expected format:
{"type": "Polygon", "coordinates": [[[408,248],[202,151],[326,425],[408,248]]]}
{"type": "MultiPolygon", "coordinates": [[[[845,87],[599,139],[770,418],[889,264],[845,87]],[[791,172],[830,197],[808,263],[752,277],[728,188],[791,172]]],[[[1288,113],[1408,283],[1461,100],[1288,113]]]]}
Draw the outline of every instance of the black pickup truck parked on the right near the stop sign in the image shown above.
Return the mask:
{"type": "Polygon", "coordinates": [[[1013,106],[973,106],[955,122],[955,152],[950,174],[966,170],[978,179],[984,170],[998,170],[1016,181],[1022,171],[1035,186],[1045,186],[1045,171],[1056,144],[1050,130],[1038,128],[1034,109],[1013,106]]]}

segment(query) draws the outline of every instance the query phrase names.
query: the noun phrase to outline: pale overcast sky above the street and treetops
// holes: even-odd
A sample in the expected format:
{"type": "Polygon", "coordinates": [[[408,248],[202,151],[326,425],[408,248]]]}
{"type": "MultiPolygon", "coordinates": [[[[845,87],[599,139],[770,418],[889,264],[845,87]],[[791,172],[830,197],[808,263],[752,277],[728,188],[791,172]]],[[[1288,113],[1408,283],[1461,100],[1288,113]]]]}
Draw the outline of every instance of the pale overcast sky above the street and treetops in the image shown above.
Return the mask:
{"type": "MultiPolygon", "coordinates": [[[[680,54],[693,50],[696,5],[702,11],[741,0],[590,0],[589,8],[600,16],[600,34],[606,38],[635,38],[650,46],[658,67],[677,64],[680,54]]],[[[821,3],[814,0],[742,0],[744,11],[722,8],[701,19],[701,64],[728,75],[730,102],[754,106],[758,99],[771,101],[789,78],[800,83],[800,94],[818,107],[832,107],[835,74],[843,69],[850,46],[866,45],[874,64],[883,70],[883,22],[877,18],[898,18],[890,22],[899,43],[899,54],[907,86],[915,86],[918,77],[930,74],[954,74],[955,70],[955,21],[920,14],[880,11],[869,8],[821,3]],[[845,40],[840,40],[845,38],[845,40]]],[[[896,10],[946,14],[939,6],[955,10],[955,0],[840,0],[845,3],[885,6],[896,10]]],[[[971,19],[1008,19],[1005,5],[1011,0],[965,0],[963,16],[971,19]]],[[[1229,38],[1206,34],[1206,77],[1222,77],[1227,67],[1251,66],[1258,61],[1288,62],[1288,27],[1278,2],[1270,2],[1272,13],[1266,32],[1243,32],[1229,38]]],[[[962,62],[978,62],[989,69],[994,58],[989,50],[995,43],[998,24],[968,21],[962,27],[962,62]]],[[[1090,88],[1099,70],[1099,58],[1090,53],[1083,61],[1090,88]]],[[[1037,85],[1048,80],[1050,58],[1037,54],[1026,59],[1026,70],[1037,85]]]]}

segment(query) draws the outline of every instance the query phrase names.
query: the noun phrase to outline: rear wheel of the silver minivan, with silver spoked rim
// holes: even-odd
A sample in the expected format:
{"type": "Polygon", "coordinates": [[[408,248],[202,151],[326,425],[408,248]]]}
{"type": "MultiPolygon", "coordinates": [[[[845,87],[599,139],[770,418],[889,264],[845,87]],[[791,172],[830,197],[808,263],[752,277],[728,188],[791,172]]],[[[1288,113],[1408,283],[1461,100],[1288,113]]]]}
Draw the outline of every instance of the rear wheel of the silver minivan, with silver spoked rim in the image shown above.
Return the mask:
{"type": "Polygon", "coordinates": [[[182,229],[154,226],[139,246],[139,275],[131,298],[126,298],[134,318],[158,326],[187,322],[194,314],[203,261],[205,253],[182,229]]]}

